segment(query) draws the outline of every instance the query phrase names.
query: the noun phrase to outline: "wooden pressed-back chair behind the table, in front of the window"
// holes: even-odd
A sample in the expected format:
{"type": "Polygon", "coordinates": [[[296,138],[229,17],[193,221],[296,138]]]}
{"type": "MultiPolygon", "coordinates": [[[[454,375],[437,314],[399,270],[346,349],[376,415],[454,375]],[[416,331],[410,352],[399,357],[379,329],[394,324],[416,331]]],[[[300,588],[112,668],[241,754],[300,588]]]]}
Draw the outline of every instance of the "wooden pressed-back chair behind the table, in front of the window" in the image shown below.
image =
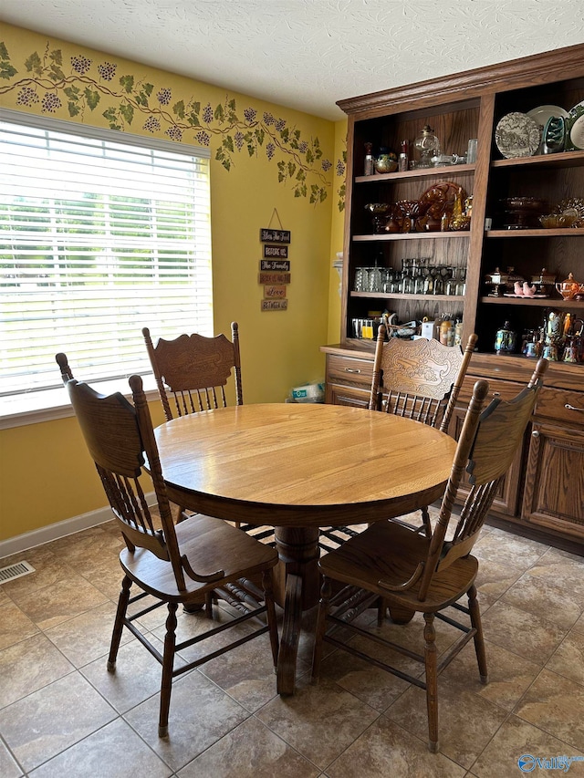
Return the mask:
{"type": "Polygon", "coordinates": [[[198,333],[152,343],[150,329],[142,335],[151,361],[167,421],[198,410],[225,407],[225,386],[232,373],[235,403],[244,404],[239,357],[239,327],[231,324],[231,337],[222,333],[205,337],[198,333]]]}

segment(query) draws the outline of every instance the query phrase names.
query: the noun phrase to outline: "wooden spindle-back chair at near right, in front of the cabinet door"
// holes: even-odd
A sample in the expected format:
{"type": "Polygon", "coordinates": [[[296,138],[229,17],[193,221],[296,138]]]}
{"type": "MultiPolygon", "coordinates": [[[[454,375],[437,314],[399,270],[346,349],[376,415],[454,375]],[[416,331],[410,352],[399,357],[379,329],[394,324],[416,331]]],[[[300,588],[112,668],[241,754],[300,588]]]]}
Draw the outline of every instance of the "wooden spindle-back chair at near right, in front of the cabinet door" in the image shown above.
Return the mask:
{"type": "Polygon", "coordinates": [[[509,402],[493,399],[485,410],[488,383],[477,381],[474,385],[432,537],[412,533],[401,524],[381,521],[331,551],[318,563],[324,577],[318,606],[313,679],[318,679],[326,642],[424,689],[429,744],[433,752],[439,747],[438,674],[471,639],[474,640],[480,679],[487,682],[485,642],[474,586],[478,561],[471,551],[497,487],[521,444],[546,368],[547,361],[540,359],[526,389],[509,402]],[[464,490],[460,491],[464,472],[470,486],[465,483],[464,490]],[[458,516],[452,513],[457,496],[463,499],[458,516]],[[331,597],[333,584],[337,584],[337,594],[331,597]],[[463,596],[468,597],[467,607],[459,602],[463,596]],[[396,614],[397,623],[407,623],[415,613],[422,613],[423,655],[350,623],[351,615],[362,610],[360,605],[366,607],[368,603],[376,602],[383,604],[378,619],[380,624],[384,604],[389,605],[392,615],[396,614]],[[448,607],[466,614],[470,623],[446,615],[444,610],[448,607]],[[462,632],[440,661],[436,656],[434,617],[462,632]],[[421,679],[370,657],[351,645],[350,640],[343,639],[347,631],[349,635],[371,638],[377,644],[421,662],[425,676],[421,679]]]}

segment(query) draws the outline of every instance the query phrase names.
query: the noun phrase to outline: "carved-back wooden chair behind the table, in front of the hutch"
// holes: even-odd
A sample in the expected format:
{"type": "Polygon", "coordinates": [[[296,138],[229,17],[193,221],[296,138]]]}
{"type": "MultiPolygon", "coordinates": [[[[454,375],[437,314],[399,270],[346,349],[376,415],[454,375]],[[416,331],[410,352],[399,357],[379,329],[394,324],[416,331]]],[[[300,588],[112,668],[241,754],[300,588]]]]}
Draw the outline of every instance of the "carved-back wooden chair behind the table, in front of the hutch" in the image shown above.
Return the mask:
{"type": "MultiPolygon", "coordinates": [[[[464,351],[425,337],[391,337],[386,342],[385,327],[381,325],[375,345],[370,410],[422,421],[448,432],[476,341],[476,335],[471,335],[464,351]]],[[[399,518],[392,521],[432,534],[427,507],[422,508],[420,526],[412,527],[399,518]]]]}

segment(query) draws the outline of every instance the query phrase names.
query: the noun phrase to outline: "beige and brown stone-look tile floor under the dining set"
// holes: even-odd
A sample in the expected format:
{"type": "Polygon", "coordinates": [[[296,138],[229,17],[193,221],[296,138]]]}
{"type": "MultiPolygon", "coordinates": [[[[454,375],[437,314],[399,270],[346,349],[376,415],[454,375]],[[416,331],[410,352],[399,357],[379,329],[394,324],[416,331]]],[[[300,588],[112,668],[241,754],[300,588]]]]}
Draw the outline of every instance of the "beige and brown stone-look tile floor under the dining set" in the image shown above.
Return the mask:
{"type": "MultiPolygon", "coordinates": [[[[584,757],[579,556],[485,527],[475,553],[490,683],[464,648],[439,680],[431,754],[422,690],[339,651],[312,685],[308,633],[295,696],[276,696],[262,636],[175,681],[170,737],[159,740],[160,667],[127,630],[116,673],[106,671],[120,545],[108,523],[1,561],[36,567],[0,586],[2,778],[502,778],[523,774],[522,754],[584,757]]],[[[182,614],[181,634],[201,618],[182,614]]],[[[161,638],[163,619],[154,611],[142,624],[161,638]]],[[[404,645],[421,631],[418,621],[381,629],[404,645]]],[[[454,630],[437,631],[444,648],[454,630]]],[[[569,773],[584,775],[584,763],[569,773]]]]}

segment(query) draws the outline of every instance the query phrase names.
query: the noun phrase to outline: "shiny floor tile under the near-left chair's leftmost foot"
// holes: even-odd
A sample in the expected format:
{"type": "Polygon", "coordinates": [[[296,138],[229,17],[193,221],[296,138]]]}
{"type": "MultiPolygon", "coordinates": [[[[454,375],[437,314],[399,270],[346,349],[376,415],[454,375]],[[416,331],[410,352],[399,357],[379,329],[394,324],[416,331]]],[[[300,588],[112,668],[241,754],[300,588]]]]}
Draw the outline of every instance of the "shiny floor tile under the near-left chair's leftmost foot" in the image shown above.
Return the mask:
{"type": "Polygon", "coordinates": [[[105,656],[80,669],[116,711],[125,713],[160,691],[162,667],[138,640],[120,646],[115,672],[105,656]]]}

